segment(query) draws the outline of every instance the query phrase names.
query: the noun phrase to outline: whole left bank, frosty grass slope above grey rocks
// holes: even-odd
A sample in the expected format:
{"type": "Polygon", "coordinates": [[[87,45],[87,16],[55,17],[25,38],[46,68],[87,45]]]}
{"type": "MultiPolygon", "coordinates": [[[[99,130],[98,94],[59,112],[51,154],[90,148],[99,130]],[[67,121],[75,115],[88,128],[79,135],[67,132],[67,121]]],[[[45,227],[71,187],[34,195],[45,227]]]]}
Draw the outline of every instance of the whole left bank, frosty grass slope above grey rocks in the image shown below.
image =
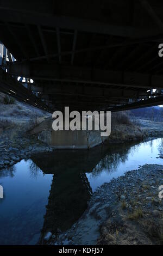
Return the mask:
{"type": "Polygon", "coordinates": [[[0,169],[7,168],[31,155],[52,152],[53,148],[29,134],[34,125],[49,114],[35,107],[16,102],[0,104],[0,169]]]}

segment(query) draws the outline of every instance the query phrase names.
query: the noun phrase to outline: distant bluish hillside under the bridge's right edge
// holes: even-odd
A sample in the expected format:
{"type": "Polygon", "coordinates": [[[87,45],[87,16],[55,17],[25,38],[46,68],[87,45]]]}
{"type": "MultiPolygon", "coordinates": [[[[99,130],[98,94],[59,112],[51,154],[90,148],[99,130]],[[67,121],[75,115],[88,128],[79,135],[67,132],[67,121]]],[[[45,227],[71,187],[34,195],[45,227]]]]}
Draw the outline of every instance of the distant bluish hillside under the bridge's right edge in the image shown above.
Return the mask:
{"type": "Polygon", "coordinates": [[[131,118],[141,118],[147,119],[156,122],[163,121],[163,108],[156,106],[156,107],[145,107],[145,108],[138,108],[133,109],[130,111],[131,118]]]}

